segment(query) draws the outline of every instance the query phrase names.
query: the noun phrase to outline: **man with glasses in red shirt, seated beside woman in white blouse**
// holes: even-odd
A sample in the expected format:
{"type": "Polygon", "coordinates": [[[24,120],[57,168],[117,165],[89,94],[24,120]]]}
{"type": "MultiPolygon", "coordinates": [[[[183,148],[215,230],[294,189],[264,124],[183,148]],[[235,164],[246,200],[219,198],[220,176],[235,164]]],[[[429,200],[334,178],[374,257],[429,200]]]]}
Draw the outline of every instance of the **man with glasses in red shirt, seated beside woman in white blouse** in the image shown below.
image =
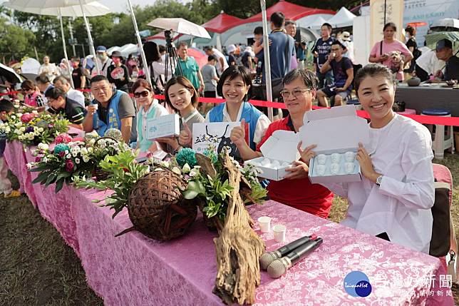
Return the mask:
{"type": "MultiPolygon", "coordinates": [[[[272,133],[277,130],[299,131],[303,126],[303,117],[306,111],[311,111],[312,101],[316,98],[318,80],[314,73],[306,69],[296,68],[284,77],[284,89],[281,91],[289,115],[271,123],[258,143],[257,151],[253,151],[244,141],[244,128],[233,128],[231,141],[236,144],[243,160],[250,160],[262,156],[259,148],[272,133]]],[[[333,200],[333,193],[319,184],[311,184],[308,178],[308,166],[301,160],[292,163],[287,168],[289,174],[284,180],[269,182],[267,187],[269,198],[279,203],[304,210],[307,213],[327,218],[333,200]]]]}

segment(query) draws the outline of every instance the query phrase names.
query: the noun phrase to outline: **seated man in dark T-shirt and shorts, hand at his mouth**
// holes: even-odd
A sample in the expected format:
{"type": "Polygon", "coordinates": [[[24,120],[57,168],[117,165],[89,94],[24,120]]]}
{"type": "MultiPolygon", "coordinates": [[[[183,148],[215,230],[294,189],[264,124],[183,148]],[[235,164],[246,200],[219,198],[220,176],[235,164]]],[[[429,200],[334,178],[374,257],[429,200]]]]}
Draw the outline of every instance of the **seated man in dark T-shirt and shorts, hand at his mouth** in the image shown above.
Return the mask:
{"type": "Polygon", "coordinates": [[[351,94],[352,80],[354,80],[354,66],[352,61],[343,56],[343,46],[339,41],[334,41],[331,44],[331,53],[324,65],[321,66],[320,72],[326,73],[333,70],[334,83],[326,85],[317,91],[317,99],[319,106],[329,106],[327,98],[334,97],[334,103],[331,106],[341,106],[344,99],[351,94]]]}

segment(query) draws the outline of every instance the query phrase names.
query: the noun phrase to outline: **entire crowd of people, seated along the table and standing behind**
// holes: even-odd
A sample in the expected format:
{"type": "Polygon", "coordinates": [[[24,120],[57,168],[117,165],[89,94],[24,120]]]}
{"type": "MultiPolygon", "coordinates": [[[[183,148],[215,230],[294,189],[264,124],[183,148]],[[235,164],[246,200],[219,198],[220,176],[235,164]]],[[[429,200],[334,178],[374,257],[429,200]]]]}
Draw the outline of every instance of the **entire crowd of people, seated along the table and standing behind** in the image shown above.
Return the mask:
{"type": "MultiPolygon", "coordinates": [[[[303,148],[299,143],[301,158],[294,161],[284,180],[269,182],[269,198],[327,218],[334,193],[341,195],[349,201],[344,224],[428,253],[432,232],[430,208],[434,200],[430,133],[392,108],[397,81],[403,80],[403,72],[416,73],[416,59],[424,56],[416,51],[415,32],[408,27],[408,41],[403,44],[395,39],[396,25],[386,24],[383,40],[371,49],[368,58],[371,63],[359,67],[349,32],[335,39],[331,36],[331,25],[324,24],[321,38],[312,48],[315,59],[310,70],[305,68],[306,44],[296,41],[294,21],[285,21],[284,14],[276,12],[270,22],[273,97],[282,99],[287,108],[284,113],[274,113],[278,117],[274,122],[264,109],[248,102],[254,77],[262,84],[265,80],[263,30],[259,27],[254,29],[253,46],[244,51],[239,46],[227,46],[227,57],[218,49],[206,48],[207,63],[202,68],[195,58],[188,56],[184,42],[177,46],[176,65],[170,64],[164,46],[147,42],[143,48],[148,67],[144,69],[149,69],[151,82],[145,80],[145,73],[134,57],[124,59],[117,51],[108,57],[106,48],[99,46],[96,61],[100,73],[95,71],[96,65],[89,69],[78,58],[72,59],[73,84],[88,86],[91,95],[87,96],[71,88],[70,80],[51,68],[46,57],[35,82],[21,83],[24,103],[38,111],[62,113],[73,127],[87,133],[97,131],[103,136],[109,128],[116,128],[125,143],[161,158],[192,146],[194,123],[238,122],[240,125],[232,129],[230,139],[242,160],[250,160],[262,156],[260,147],[274,131],[298,132],[303,126],[304,113],[311,111],[316,99],[321,106],[330,105],[328,98],[333,98],[331,105],[343,105],[354,91],[371,119],[371,144],[367,148],[360,146],[356,155],[363,174],[361,182],[312,184],[308,169],[314,146],[303,148]],[[165,101],[158,101],[156,93],[164,93],[165,101]],[[206,107],[200,108],[200,95],[221,96],[225,103],[213,107],[206,103],[206,107]],[[148,139],[148,119],[169,113],[180,116],[180,136],[148,139]]],[[[432,81],[458,79],[459,58],[452,53],[452,42],[438,41],[435,54],[438,61],[444,61],[445,70],[426,71],[433,75],[432,81]]],[[[2,120],[9,112],[10,103],[1,101],[2,120]]],[[[0,158],[0,170],[2,166],[0,158]]],[[[6,196],[11,194],[9,185],[0,187],[6,196]]]]}

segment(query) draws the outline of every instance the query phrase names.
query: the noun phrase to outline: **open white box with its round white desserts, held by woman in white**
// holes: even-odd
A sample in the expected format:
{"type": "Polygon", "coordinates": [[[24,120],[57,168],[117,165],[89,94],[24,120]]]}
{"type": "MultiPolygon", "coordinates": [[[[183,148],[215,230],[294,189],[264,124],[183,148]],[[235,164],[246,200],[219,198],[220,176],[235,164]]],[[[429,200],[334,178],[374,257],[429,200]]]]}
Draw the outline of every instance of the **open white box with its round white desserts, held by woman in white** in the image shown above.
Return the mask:
{"type": "Polygon", "coordinates": [[[302,148],[316,145],[309,162],[311,183],[344,183],[362,179],[355,159],[359,142],[369,139],[366,119],[359,118],[354,106],[336,106],[308,111],[299,129],[302,148]]]}

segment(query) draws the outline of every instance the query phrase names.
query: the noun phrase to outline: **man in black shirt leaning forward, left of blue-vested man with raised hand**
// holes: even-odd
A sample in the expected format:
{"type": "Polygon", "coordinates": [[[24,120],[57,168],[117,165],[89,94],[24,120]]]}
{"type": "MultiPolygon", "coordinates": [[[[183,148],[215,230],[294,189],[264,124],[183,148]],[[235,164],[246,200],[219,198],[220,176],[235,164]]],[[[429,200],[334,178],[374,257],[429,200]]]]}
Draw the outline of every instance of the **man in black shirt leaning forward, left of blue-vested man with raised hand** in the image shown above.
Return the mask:
{"type": "Polygon", "coordinates": [[[48,112],[62,113],[70,121],[70,126],[83,130],[85,111],[78,102],[66,98],[66,93],[58,88],[46,91],[45,97],[48,99],[48,112]]]}

